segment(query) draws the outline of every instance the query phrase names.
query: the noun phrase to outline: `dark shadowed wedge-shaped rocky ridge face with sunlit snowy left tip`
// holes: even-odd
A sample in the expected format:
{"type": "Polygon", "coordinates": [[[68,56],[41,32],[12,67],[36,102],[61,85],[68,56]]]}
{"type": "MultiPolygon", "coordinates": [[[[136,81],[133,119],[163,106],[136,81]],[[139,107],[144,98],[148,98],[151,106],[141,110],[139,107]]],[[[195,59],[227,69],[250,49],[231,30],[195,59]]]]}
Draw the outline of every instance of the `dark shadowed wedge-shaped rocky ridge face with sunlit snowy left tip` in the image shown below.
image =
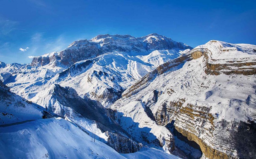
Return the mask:
{"type": "Polygon", "coordinates": [[[76,112],[80,116],[101,123],[103,128],[120,129],[114,122],[110,122],[108,111],[104,107],[89,98],[81,98],[75,89],[53,84],[46,92],[48,93],[46,97],[40,95],[41,98],[38,98],[38,104],[45,106],[49,113],[65,118],[66,116],[72,116],[70,112],[76,112]]]}

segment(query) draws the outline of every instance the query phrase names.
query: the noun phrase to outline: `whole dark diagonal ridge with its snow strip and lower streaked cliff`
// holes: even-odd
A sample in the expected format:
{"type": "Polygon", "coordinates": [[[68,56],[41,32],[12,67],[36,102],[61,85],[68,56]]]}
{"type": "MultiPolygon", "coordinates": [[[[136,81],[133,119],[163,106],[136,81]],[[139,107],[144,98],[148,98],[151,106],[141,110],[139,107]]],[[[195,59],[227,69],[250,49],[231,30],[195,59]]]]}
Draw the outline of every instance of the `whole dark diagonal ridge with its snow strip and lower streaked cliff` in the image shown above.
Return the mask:
{"type": "Polygon", "coordinates": [[[75,123],[87,134],[92,135],[94,132],[97,140],[119,153],[136,152],[143,146],[136,140],[133,141],[101,104],[87,97],[81,98],[71,87],[53,84],[44,92],[40,92],[38,97],[37,104],[45,107],[46,111],[75,123]]]}

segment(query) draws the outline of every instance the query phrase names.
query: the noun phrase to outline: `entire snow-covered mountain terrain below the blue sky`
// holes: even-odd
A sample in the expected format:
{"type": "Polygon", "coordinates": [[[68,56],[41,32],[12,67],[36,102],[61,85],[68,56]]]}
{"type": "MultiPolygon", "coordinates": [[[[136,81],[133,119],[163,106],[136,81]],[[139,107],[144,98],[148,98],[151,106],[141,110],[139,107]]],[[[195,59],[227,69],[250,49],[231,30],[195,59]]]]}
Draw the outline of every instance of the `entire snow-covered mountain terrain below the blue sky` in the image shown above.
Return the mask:
{"type": "Polygon", "coordinates": [[[0,62],[0,157],[256,158],[255,73],[255,45],[158,34],[0,62]]]}

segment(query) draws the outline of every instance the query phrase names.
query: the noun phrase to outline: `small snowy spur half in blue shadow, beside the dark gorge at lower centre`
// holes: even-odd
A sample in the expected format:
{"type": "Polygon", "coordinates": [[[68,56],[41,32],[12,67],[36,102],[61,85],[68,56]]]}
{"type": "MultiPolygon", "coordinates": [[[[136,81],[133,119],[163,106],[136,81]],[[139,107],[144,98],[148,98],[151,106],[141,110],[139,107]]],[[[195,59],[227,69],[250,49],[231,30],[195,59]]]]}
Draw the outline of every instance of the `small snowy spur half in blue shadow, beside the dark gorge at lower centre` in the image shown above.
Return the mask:
{"type": "Polygon", "coordinates": [[[141,101],[116,104],[114,107],[111,106],[112,109],[117,109],[118,111],[118,124],[136,140],[144,145],[170,153],[168,151],[168,146],[165,145],[165,140],[170,141],[172,134],[167,128],[158,126],[156,122],[151,120],[145,113],[143,107],[144,103],[141,101]],[[158,145],[155,145],[154,140],[163,142],[164,147],[161,148],[158,145]]]}

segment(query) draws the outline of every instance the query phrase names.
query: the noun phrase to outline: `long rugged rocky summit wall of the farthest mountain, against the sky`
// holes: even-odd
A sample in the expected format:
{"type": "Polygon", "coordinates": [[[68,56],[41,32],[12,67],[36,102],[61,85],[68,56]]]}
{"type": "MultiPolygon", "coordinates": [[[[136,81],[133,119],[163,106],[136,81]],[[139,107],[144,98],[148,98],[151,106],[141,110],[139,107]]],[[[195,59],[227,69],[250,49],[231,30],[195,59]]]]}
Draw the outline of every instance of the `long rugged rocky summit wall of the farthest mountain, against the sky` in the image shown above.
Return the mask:
{"type": "Polygon", "coordinates": [[[91,40],[74,41],[67,49],[33,58],[31,66],[53,64],[69,67],[77,61],[95,58],[107,52],[150,52],[157,49],[192,49],[158,34],[135,38],[131,35],[98,35],[91,40]]]}

